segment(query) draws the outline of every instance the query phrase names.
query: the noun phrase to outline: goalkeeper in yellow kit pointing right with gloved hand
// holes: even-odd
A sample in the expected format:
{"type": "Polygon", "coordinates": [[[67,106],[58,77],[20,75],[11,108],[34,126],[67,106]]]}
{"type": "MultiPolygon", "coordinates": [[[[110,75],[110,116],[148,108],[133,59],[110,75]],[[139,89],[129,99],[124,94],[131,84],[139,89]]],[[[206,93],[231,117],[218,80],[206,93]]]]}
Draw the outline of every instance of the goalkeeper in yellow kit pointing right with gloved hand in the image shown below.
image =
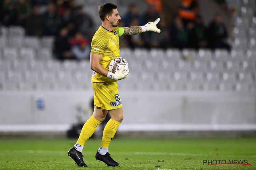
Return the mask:
{"type": "Polygon", "coordinates": [[[110,61],[120,56],[119,36],[136,35],[146,31],[160,32],[156,27],[160,18],[157,18],[155,22],[148,22],[145,26],[118,27],[121,17],[117,6],[113,3],[100,5],[99,16],[102,24],[93,36],[90,53],[90,68],[94,71],[91,77],[91,85],[94,89],[94,113],[85,122],[74,147],[68,151],[68,156],[74,159],[77,166],[81,167],[87,167],[82,155],[84,144],[105,119],[107,113],[110,114],[111,119],[104,128],[102,142],[95,157],[108,166],[119,165],[109,154],[109,143],[123,120],[123,107],[117,89],[117,80],[125,79],[129,70],[124,71],[122,67],[115,73],[108,71],[110,61]]]}

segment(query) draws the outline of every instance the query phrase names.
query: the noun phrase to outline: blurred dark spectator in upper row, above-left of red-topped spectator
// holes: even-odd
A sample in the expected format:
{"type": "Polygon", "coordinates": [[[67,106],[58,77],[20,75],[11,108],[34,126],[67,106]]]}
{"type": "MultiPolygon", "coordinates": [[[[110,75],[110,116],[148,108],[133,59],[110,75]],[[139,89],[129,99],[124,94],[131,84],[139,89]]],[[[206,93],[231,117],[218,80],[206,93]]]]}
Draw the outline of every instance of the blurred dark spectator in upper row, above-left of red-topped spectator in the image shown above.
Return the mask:
{"type": "Polygon", "coordinates": [[[45,35],[56,35],[60,26],[61,20],[56,11],[54,3],[49,3],[47,11],[43,14],[44,19],[44,34],[45,35]]]}

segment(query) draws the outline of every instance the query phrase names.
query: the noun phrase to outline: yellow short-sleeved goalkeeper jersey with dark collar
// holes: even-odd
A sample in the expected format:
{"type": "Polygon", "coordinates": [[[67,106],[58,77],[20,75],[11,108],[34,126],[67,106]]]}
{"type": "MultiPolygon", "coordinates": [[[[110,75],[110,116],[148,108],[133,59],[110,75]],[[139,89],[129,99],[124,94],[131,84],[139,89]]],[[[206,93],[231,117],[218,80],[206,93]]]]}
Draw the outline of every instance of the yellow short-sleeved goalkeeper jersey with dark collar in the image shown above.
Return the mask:
{"type": "MultiPolygon", "coordinates": [[[[124,29],[114,27],[113,31],[100,26],[91,41],[91,53],[102,55],[100,64],[109,71],[109,63],[113,58],[120,56],[119,36],[123,35],[124,29]]],[[[102,83],[113,81],[99,73],[93,72],[91,82],[102,83]]]]}

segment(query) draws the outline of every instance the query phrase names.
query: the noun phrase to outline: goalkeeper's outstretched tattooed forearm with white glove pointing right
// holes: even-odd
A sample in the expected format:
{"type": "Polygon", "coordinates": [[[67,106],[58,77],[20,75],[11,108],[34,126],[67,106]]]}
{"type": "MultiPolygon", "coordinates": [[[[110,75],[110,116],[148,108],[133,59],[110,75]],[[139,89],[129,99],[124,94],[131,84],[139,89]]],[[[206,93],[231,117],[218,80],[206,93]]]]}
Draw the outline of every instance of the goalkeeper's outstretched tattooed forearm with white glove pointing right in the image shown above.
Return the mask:
{"type": "Polygon", "coordinates": [[[124,29],[123,35],[136,35],[146,31],[154,31],[154,32],[160,33],[161,30],[156,27],[156,24],[159,21],[160,21],[160,18],[157,18],[155,22],[148,22],[145,26],[125,27],[123,28],[124,29]]]}

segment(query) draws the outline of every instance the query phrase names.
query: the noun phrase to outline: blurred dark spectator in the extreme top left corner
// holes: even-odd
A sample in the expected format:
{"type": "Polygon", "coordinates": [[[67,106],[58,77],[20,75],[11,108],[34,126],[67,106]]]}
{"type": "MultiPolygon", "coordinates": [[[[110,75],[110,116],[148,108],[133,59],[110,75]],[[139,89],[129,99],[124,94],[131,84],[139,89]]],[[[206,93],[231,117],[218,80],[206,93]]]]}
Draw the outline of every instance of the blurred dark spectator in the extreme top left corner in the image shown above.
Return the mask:
{"type": "Polygon", "coordinates": [[[13,0],[1,0],[0,5],[0,22],[4,26],[14,25],[16,21],[15,2],[13,0]]]}

